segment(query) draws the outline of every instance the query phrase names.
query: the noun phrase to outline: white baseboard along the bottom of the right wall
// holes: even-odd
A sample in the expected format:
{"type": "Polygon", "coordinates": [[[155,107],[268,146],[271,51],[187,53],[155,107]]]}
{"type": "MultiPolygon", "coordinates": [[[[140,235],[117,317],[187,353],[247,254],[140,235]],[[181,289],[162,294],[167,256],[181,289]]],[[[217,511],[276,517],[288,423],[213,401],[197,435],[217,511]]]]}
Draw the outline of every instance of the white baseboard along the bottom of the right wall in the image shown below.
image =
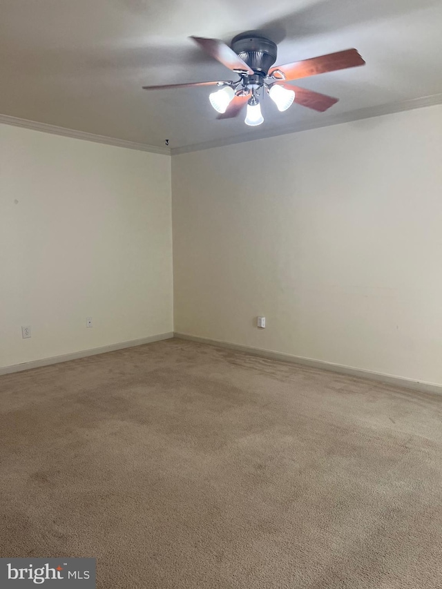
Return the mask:
{"type": "Polygon", "coordinates": [[[182,340],[190,340],[192,342],[199,342],[202,344],[234,349],[236,351],[244,351],[247,354],[251,354],[252,356],[261,356],[262,358],[270,358],[271,360],[280,360],[281,362],[291,362],[294,364],[309,366],[311,368],[330,370],[332,372],[338,372],[339,374],[346,374],[347,376],[368,378],[369,380],[377,380],[378,382],[385,383],[387,385],[405,387],[406,389],[413,389],[419,392],[442,394],[442,385],[425,383],[422,380],[412,380],[411,378],[403,378],[402,376],[393,376],[392,374],[373,372],[363,368],[353,368],[351,366],[333,364],[331,362],[325,362],[324,360],[314,360],[313,358],[302,358],[302,356],[293,356],[292,354],[284,354],[283,352],[279,351],[244,346],[241,344],[224,342],[222,340],[200,338],[198,336],[191,336],[190,334],[180,334],[176,331],[173,335],[175,338],[180,338],[182,340]]]}

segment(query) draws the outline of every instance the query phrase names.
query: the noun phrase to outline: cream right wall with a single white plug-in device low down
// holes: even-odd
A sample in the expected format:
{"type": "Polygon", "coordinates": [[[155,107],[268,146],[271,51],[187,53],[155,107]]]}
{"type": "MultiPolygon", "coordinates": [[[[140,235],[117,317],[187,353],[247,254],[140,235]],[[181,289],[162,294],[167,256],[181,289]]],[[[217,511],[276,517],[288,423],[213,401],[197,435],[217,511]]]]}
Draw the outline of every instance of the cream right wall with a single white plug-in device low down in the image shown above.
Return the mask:
{"type": "Polygon", "coordinates": [[[172,160],[175,331],[442,384],[442,106],[172,160]]]}

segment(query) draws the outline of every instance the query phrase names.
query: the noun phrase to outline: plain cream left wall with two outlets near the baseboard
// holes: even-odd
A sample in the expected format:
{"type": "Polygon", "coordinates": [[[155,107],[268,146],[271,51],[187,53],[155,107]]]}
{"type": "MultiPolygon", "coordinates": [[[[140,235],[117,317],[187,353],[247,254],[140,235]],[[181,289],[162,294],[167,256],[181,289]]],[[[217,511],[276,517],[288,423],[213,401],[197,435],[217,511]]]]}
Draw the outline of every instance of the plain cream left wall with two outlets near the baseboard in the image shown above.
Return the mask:
{"type": "Polygon", "coordinates": [[[173,330],[170,160],[0,125],[0,367],[173,330]]]}

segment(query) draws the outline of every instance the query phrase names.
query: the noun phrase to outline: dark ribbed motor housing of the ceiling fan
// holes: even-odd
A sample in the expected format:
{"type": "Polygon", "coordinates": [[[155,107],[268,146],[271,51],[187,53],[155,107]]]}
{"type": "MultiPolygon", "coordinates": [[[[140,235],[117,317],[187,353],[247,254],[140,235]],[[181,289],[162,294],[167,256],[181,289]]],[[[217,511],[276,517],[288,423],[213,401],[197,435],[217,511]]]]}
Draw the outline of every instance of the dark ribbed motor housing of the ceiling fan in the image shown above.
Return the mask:
{"type": "Polygon", "coordinates": [[[243,32],[233,37],[231,48],[256,74],[262,76],[267,76],[278,55],[278,48],[273,41],[253,32],[243,32]]]}

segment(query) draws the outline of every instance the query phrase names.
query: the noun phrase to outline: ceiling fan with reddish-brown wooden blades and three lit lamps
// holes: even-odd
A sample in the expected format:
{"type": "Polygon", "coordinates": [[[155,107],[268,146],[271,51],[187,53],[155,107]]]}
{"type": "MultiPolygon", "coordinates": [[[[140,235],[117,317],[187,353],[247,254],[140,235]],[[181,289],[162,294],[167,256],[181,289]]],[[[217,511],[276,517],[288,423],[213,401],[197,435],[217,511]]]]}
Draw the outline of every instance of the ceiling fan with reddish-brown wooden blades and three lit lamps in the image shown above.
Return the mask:
{"type": "Polygon", "coordinates": [[[167,84],[166,86],[143,86],[144,90],[166,88],[188,88],[191,86],[219,86],[209,95],[218,119],[239,115],[247,104],[245,124],[260,125],[264,122],[260,101],[267,94],[281,112],[296,102],[323,113],[338,102],[325,94],[287,84],[288,81],[363,66],[365,61],[356,49],[329,53],[304,61],[272,67],[278,55],[276,43],[263,37],[259,32],[248,31],[233,37],[231,48],[218,39],[190,37],[202,50],[224,66],[237,73],[236,81],[202,81],[190,84],[167,84]]]}

